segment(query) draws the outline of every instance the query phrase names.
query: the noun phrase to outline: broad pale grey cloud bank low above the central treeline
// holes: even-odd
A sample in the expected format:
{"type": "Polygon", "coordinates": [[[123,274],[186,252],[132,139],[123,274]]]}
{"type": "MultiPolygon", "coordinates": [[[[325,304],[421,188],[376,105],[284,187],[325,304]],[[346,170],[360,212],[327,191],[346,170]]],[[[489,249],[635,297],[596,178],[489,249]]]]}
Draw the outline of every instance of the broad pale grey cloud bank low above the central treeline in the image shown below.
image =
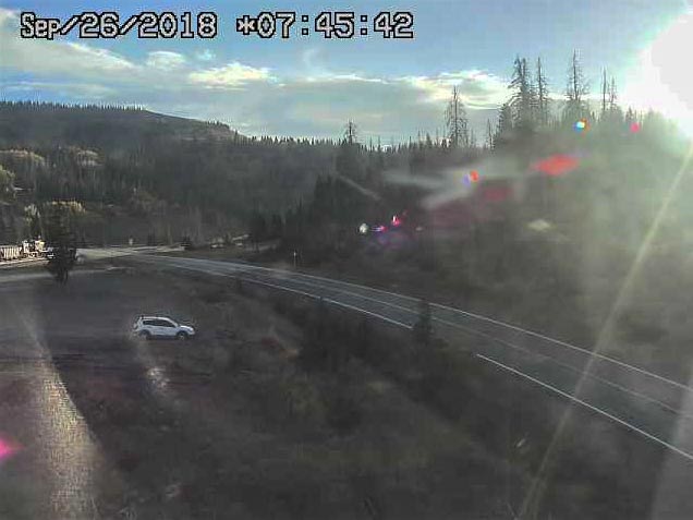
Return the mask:
{"type": "MultiPolygon", "coordinates": [[[[156,102],[158,108],[168,106],[161,98],[156,102]]],[[[445,101],[422,101],[421,92],[406,81],[350,75],[257,83],[232,98],[208,89],[198,105],[189,98],[177,107],[177,114],[222,119],[253,134],[337,137],[353,120],[362,140],[381,136],[386,142],[405,141],[418,131],[442,132],[443,111],[445,101]]],[[[470,109],[467,116],[481,140],[487,119],[495,121],[496,108],[470,109]]]]}

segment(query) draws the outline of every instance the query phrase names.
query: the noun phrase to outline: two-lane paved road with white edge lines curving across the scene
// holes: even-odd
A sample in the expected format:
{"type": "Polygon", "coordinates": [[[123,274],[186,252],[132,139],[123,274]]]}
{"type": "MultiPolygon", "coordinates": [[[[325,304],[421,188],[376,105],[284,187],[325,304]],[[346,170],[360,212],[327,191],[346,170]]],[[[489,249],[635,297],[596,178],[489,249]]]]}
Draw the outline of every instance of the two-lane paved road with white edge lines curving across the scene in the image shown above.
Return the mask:
{"type": "MultiPolygon", "coordinates": [[[[387,291],[294,271],[244,263],[146,255],[137,251],[93,251],[104,258],[131,254],[136,262],[238,277],[296,294],[323,298],[399,327],[412,327],[418,301],[387,291]]],[[[474,344],[474,353],[509,376],[522,377],[548,392],[589,408],[646,437],[686,463],[693,463],[693,388],[643,368],[596,355],[583,348],[540,334],[445,305],[431,305],[435,328],[454,341],[474,344]],[[462,335],[462,336],[461,336],[462,335]]]]}

